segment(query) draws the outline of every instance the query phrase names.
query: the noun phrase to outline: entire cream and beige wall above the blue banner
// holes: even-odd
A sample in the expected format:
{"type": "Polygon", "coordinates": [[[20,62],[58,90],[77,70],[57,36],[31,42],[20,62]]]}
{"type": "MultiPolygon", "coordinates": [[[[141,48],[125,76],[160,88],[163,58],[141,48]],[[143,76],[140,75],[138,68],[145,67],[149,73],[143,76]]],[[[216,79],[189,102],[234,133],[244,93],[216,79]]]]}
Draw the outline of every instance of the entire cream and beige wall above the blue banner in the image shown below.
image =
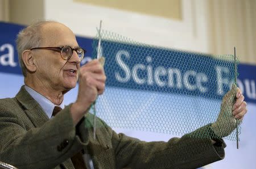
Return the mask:
{"type": "Polygon", "coordinates": [[[162,0],[158,6],[154,2],[0,0],[0,20],[29,24],[52,19],[90,37],[103,20],[104,29],[162,47],[233,54],[236,46],[241,62],[256,64],[256,1],[162,0]],[[162,6],[167,10],[152,10],[162,6]]]}

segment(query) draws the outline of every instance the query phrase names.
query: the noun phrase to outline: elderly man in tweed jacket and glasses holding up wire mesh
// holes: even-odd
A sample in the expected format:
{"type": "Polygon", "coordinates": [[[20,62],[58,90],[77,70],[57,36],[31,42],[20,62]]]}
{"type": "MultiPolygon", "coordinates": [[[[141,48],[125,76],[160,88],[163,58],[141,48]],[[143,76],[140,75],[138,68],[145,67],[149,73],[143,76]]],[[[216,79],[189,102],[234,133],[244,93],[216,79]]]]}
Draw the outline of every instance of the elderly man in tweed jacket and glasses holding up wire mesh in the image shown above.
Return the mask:
{"type": "Polygon", "coordinates": [[[0,160],[19,168],[196,168],[224,158],[220,138],[247,111],[240,89],[233,86],[217,121],[181,138],[143,142],[117,134],[97,119],[94,140],[88,109],[104,92],[100,61],[80,67],[85,50],[71,29],[57,22],[34,23],[16,42],[24,86],[15,98],[0,100],[0,160]],[[64,94],[77,79],[76,102],[64,107],[64,94]],[[235,97],[234,105],[228,102],[235,97]],[[205,132],[211,137],[192,137],[205,132]]]}

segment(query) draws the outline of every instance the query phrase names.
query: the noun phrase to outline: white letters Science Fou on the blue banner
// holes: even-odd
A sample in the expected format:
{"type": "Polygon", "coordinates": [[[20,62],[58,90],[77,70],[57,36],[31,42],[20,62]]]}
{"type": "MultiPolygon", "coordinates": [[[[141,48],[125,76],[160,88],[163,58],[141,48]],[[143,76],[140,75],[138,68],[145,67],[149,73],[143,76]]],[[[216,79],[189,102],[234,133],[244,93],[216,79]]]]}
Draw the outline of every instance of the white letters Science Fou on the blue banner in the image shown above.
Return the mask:
{"type": "MultiPolygon", "coordinates": [[[[147,65],[135,64],[129,67],[123,58],[130,59],[130,54],[126,50],[119,50],[115,56],[118,66],[121,71],[115,71],[115,79],[118,82],[126,83],[133,80],[135,83],[142,85],[148,84],[150,86],[156,85],[159,87],[170,87],[182,89],[183,87],[189,91],[199,90],[202,93],[208,92],[208,87],[205,85],[208,82],[208,77],[205,73],[197,72],[195,70],[187,70],[183,74],[177,68],[158,66],[153,69],[150,56],[146,57],[147,65]],[[144,73],[146,76],[139,76],[139,73],[144,73]],[[195,82],[189,81],[189,78],[195,82]]],[[[216,66],[217,91],[216,94],[223,96],[226,93],[225,87],[231,88],[233,80],[228,78],[230,70],[228,67],[216,66]]],[[[237,79],[237,86],[240,87],[242,93],[246,93],[249,99],[256,99],[255,81],[245,79],[243,82],[237,79]]]]}

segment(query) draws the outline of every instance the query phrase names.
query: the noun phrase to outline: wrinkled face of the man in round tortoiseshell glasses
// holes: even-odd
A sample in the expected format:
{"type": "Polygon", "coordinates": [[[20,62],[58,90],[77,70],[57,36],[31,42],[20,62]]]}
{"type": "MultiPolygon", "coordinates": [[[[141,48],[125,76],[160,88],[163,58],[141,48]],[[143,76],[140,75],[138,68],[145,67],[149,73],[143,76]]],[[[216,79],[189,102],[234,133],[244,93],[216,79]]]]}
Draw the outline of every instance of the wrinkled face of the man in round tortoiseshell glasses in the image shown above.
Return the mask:
{"type": "MultiPolygon", "coordinates": [[[[42,28],[40,47],[78,47],[74,33],[63,24],[47,23],[42,28]]],[[[74,88],[78,79],[80,60],[75,50],[69,60],[63,60],[59,50],[32,50],[36,57],[36,79],[39,85],[56,91],[74,88]]]]}

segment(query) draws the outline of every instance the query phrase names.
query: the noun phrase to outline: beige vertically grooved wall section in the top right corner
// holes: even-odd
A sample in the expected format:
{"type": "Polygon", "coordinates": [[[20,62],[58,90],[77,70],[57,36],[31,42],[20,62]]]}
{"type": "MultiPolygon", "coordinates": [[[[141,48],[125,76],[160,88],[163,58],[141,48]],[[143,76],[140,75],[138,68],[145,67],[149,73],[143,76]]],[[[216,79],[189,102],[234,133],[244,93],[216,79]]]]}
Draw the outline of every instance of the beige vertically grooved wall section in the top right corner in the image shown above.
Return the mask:
{"type": "Polygon", "coordinates": [[[256,64],[256,1],[209,1],[210,53],[233,54],[242,62],[256,64]]]}

